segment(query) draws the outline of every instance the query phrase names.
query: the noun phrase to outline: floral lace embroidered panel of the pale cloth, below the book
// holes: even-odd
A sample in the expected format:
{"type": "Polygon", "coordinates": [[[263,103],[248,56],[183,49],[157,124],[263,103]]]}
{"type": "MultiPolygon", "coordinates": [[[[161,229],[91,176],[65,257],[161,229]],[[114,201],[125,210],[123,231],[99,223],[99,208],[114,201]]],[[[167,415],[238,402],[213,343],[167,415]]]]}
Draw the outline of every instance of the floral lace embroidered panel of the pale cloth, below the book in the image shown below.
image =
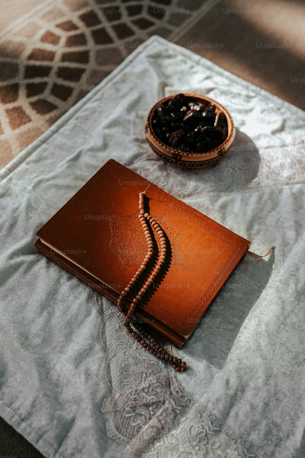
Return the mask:
{"type": "Polygon", "coordinates": [[[116,305],[95,291],[90,301],[102,316],[94,337],[105,354],[98,376],[109,392],[101,409],[113,440],[109,457],[268,458],[182,393],[171,366],[142,354],[116,305]]]}

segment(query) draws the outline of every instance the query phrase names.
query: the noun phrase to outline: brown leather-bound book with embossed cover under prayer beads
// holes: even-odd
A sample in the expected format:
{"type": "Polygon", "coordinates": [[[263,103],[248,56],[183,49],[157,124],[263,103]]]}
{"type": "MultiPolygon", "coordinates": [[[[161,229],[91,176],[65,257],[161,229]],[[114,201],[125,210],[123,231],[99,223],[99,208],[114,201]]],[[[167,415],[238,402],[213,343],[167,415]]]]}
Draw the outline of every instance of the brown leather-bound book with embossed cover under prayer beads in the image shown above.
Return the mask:
{"type": "MultiPolygon", "coordinates": [[[[248,240],[109,160],[37,231],[35,245],[116,303],[147,252],[138,218],[143,191],[147,212],[165,233],[167,253],[138,304],[136,320],[182,348],[246,254],[248,240]]],[[[139,283],[145,282],[157,261],[160,242],[154,238],[151,266],[139,283]]],[[[128,301],[136,294],[135,289],[128,301]]]]}

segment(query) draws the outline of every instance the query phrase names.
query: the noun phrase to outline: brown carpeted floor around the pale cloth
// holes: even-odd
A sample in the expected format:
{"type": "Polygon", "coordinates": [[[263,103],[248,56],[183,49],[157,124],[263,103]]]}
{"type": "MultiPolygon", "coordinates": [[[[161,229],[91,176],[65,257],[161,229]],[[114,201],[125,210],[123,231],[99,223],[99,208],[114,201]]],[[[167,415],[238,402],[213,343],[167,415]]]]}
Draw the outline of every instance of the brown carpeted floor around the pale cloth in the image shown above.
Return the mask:
{"type": "MultiPolygon", "coordinates": [[[[300,0],[11,0],[0,16],[0,168],[153,34],[305,109],[300,0]]],[[[0,455],[42,455],[0,419],[0,455]]]]}

